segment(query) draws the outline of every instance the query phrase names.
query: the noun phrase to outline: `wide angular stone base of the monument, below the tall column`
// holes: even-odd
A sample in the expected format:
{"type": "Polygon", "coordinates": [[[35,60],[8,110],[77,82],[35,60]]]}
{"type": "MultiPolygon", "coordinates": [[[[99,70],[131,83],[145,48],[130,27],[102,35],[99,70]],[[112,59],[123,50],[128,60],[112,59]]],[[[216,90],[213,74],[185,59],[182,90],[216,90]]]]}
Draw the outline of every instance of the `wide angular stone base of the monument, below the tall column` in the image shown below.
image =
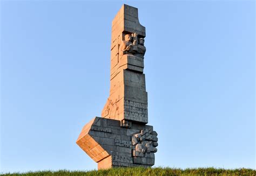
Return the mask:
{"type": "Polygon", "coordinates": [[[95,117],[84,126],[76,143],[98,163],[98,169],[106,169],[153,166],[157,140],[153,126],[130,123],[125,128],[120,121],[95,117]]]}

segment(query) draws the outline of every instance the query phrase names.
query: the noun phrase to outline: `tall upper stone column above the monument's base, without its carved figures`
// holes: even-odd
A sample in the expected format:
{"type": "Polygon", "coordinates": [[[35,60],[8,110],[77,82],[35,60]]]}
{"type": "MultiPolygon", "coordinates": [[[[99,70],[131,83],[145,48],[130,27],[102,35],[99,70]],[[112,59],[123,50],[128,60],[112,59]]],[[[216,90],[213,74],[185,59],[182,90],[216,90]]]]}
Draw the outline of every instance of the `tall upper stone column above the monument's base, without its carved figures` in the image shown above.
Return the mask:
{"type": "Polygon", "coordinates": [[[110,96],[107,99],[102,117],[118,119],[122,123],[147,123],[147,92],[144,58],[136,51],[124,54],[120,45],[125,35],[133,40],[145,38],[145,27],[139,24],[138,9],[123,5],[112,21],[110,96]]]}

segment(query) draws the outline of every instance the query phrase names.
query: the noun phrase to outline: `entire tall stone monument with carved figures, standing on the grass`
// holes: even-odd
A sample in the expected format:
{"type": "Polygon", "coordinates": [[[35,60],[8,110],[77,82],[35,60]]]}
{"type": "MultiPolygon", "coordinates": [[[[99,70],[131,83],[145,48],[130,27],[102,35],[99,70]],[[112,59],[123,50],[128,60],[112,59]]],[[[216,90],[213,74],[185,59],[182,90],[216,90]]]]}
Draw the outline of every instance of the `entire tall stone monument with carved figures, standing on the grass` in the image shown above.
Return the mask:
{"type": "Polygon", "coordinates": [[[76,142],[98,169],[154,165],[158,138],[146,125],[145,37],[138,9],[124,4],[112,21],[110,96],[102,117],[87,123],[76,142]]]}

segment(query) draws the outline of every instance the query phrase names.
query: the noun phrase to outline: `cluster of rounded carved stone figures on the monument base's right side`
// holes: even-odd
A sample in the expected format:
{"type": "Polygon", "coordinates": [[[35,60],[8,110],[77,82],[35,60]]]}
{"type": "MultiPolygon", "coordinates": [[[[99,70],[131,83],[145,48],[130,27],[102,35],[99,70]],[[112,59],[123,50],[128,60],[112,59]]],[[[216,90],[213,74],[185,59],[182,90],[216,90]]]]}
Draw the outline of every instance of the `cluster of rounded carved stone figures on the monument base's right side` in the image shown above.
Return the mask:
{"type": "Polygon", "coordinates": [[[141,130],[132,136],[133,163],[151,165],[154,162],[154,153],[158,146],[157,132],[151,129],[141,130]]]}

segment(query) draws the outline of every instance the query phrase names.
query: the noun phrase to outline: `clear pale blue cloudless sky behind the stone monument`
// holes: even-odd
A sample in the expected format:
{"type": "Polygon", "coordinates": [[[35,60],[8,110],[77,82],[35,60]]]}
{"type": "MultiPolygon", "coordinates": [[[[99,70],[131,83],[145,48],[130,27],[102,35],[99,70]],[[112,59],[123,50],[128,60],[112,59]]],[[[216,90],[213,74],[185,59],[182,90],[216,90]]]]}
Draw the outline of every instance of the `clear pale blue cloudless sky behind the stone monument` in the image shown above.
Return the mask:
{"type": "Polygon", "coordinates": [[[254,1],[1,1],[1,172],[93,170],[76,144],[109,96],[111,22],[146,27],[155,166],[255,168],[254,1]]]}

